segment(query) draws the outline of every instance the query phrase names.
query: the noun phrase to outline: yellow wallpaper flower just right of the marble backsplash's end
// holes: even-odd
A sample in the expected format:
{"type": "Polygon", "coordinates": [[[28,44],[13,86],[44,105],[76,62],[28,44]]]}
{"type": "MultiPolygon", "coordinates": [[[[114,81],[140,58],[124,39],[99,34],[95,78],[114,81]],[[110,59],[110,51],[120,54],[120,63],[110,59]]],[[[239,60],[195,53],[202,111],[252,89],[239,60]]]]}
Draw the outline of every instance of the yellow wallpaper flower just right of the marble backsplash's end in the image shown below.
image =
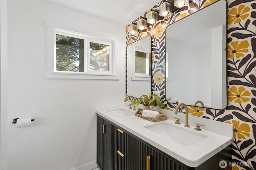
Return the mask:
{"type": "Polygon", "coordinates": [[[238,139],[245,139],[245,136],[250,136],[250,127],[246,123],[240,124],[239,121],[232,120],[232,123],[230,121],[227,121],[226,123],[230,123],[234,125],[234,137],[238,137],[238,139]]]}

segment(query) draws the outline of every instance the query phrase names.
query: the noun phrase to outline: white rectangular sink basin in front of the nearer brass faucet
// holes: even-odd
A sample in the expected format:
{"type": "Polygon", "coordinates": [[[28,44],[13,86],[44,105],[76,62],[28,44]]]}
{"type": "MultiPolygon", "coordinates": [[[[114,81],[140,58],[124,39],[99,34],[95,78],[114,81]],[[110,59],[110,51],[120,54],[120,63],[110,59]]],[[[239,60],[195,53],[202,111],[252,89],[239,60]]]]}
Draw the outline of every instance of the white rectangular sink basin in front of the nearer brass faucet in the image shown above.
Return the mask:
{"type": "MultiPolygon", "coordinates": [[[[176,141],[184,146],[190,146],[198,141],[206,139],[207,136],[194,133],[193,131],[188,131],[185,128],[187,127],[178,127],[179,125],[171,125],[169,123],[158,123],[154,125],[144,126],[150,131],[154,131],[159,135],[164,136],[167,139],[176,141]]],[[[183,126],[183,125],[180,125],[183,126]]]]}

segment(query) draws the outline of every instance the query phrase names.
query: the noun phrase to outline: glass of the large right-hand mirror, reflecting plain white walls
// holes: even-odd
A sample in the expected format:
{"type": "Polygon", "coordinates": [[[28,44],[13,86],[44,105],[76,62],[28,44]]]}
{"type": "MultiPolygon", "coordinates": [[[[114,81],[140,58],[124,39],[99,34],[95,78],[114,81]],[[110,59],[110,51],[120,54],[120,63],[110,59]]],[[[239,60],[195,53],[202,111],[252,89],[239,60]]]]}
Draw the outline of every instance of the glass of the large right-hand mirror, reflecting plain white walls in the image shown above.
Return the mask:
{"type": "Polygon", "coordinates": [[[227,106],[226,9],[220,0],[167,27],[166,96],[171,103],[227,106]]]}

